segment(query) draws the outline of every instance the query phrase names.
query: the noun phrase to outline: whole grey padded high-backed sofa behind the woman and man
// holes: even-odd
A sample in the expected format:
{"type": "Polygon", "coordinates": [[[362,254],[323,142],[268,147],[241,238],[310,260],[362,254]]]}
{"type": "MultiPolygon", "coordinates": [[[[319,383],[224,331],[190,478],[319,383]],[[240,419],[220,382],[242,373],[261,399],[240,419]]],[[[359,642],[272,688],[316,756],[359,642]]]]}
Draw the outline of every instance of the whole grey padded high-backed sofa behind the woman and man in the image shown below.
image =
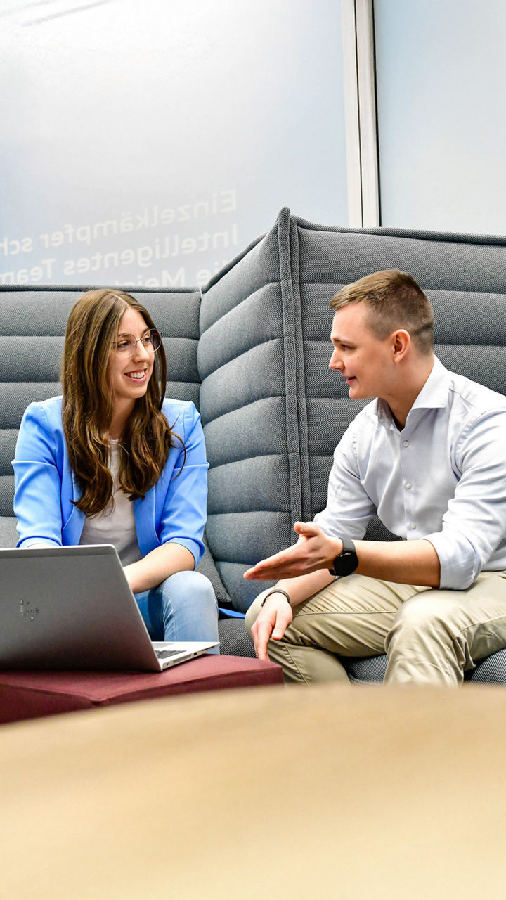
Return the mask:
{"type": "MultiPolygon", "coordinates": [[[[200,409],[210,462],[201,569],[219,605],[244,613],[251,563],[290,544],[296,519],[325,505],[331,455],[360,408],[330,372],[330,298],[384,268],[428,293],[444,365],[506,393],[506,238],[327,228],[282,210],[202,291],[135,289],[164,335],[167,394],[200,409]]],[[[15,544],[10,461],[23,410],[59,392],[68,311],[82,287],[0,285],[0,545],[15,544]]],[[[392,539],[373,521],[367,536],[392,539]]],[[[506,588],[505,588],[506,590],[506,588]]],[[[220,624],[224,653],[252,655],[240,617],[220,624]]],[[[382,680],[386,658],[344,661],[382,680]]],[[[506,683],[506,650],[468,675],[506,683]]]]}

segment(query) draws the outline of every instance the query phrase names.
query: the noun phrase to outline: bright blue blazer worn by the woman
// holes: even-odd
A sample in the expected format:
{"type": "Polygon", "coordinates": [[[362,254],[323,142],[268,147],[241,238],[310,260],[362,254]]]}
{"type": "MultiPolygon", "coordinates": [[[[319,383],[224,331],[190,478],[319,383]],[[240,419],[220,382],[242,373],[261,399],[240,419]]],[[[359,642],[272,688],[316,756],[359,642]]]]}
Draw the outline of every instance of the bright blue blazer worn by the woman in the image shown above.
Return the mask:
{"type": "MultiPolygon", "coordinates": [[[[133,501],[140,553],[145,556],[167,541],[176,541],[194,555],[203,555],[203,527],[207,502],[207,469],[200,416],[194,403],[166,400],[162,410],[175,438],[158,482],[144,500],[133,501]]],[[[31,403],[25,411],[16,444],[14,514],[18,547],[35,541],[48,545],[77,545],[85,514],[72,500],[80,491],[68,464],[61,423],[61,397],[31,403]]]]}

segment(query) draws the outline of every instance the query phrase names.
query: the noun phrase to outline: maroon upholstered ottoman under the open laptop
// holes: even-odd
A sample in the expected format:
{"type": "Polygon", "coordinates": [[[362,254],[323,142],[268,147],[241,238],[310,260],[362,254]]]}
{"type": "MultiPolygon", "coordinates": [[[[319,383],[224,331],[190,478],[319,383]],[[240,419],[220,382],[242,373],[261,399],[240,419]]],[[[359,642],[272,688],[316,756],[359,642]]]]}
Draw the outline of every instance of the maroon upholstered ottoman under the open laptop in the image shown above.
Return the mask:
{"type": "Polygon", "coordinates": [[[199,690],[283,684],[274,662],[212,653],[164,672],[0,671],[0,723],[199,690]]]}

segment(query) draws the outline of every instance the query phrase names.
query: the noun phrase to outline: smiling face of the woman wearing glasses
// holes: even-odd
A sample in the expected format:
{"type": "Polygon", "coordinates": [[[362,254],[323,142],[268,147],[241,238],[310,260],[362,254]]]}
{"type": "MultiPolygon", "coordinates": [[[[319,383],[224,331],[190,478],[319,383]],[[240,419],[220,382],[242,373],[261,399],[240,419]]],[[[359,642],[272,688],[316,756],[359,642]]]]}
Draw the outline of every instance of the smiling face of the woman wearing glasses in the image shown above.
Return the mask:
{"type": "Polygon", "coordinates": [[[133,356],[123,356],[113,347],[109,365],[111,366],[111,388],[116,410],[133,410],[135,401],[148,390],[153,374],[155,354],[151,347],[142,346],[139,338],[149,331],[149,325],[137,310],[130,307],[122,315],[116,342],[121,346],[122,338],[137,340],[133,356]]]}

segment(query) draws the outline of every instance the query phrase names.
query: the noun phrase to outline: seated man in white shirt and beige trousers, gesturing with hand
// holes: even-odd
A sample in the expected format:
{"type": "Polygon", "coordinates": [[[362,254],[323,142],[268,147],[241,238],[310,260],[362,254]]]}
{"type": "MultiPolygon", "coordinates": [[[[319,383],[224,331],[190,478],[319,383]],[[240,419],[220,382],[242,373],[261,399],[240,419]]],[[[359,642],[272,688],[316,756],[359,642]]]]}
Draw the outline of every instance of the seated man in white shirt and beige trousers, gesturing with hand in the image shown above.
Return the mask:
{"type": "Polygon", "coordinates": [[[330,368],[375,401],[336,448],[326,509],[245,573],[281,579],[249,633],[287,680],[347,680],[339,656],[386,651],[386,682],[458,684],[506,646],[506,399],[435,358],[410,275],[367,275],[330,306],[330,368]],[[376,512],[402,541],[360,539],[376,512]]]}

